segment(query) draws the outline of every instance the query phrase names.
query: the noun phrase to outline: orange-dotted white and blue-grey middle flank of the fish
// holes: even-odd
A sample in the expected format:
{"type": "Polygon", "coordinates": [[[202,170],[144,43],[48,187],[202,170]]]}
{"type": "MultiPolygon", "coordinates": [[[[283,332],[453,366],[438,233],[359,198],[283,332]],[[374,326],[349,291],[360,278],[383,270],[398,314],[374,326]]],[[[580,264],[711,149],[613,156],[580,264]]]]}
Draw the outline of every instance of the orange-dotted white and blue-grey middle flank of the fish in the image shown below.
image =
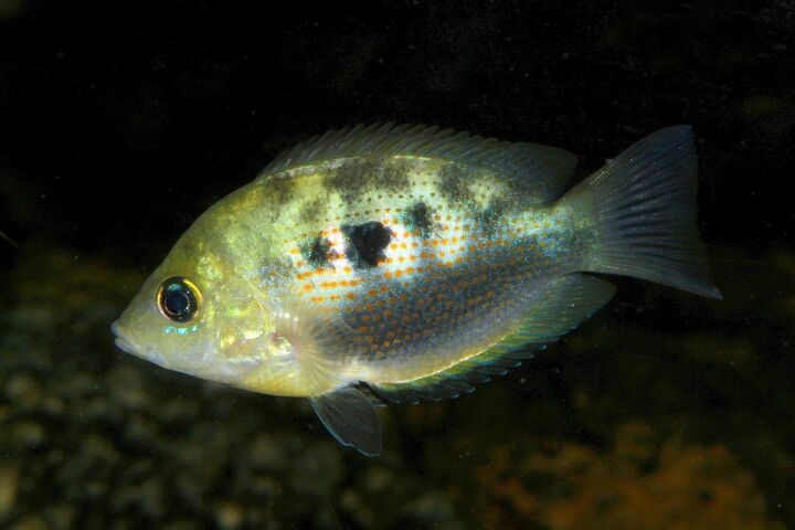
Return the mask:
{"type": "Polygon", "coordinates": [[[347,261],[339,226],[322,232],[333,243],[327,267],[308,268],[295,243],[289,245],[308,299],[342,308],[356,340],[374,358],[427,351],[434,341],[438,349],[449,348],[451,341],[507,315],[518,304],[511,293],[553,266],[541,252],[547,243],[522,236],[523,226],[516,222],[486,234],[470,231],[479,226],[462,223],[459,215],[434,213],[433,234],[422,239],[400,224],[401,211],[367,213],[392,231],[384,257],[371,269],[356,269],[347,261]],[[392,212],[398,216],[386,215],[392,212]]]}

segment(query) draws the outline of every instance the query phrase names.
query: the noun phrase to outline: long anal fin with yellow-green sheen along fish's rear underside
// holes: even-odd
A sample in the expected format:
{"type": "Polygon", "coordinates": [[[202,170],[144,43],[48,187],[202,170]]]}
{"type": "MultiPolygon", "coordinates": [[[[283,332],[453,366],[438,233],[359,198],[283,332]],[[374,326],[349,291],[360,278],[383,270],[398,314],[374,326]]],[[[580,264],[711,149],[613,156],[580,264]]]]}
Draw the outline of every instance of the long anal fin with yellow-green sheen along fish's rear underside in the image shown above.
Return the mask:
{"type": "Polygon", "coordinates": [[[457,398],[475,390],[473,384],[505,375],[545,344],[576,328],[613,297],[615,286],[584,274],[570,274],[550,284],[527,308],[527,318],[513,333],[477,356],[445,371],[405,383],[373,386],[393,402],[457,398]]]}

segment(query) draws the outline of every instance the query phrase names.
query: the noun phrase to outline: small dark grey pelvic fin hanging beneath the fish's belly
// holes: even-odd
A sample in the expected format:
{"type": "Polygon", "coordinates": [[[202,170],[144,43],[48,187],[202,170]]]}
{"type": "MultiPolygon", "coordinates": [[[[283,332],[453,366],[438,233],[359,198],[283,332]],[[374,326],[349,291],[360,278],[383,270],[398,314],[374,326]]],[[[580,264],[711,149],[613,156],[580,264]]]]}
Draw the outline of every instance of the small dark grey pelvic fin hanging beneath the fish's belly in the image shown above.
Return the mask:
{"type": "Polygon", "coordinates": [[[381,420],[360,390],[346,386],[310,398],[309,403],[337,442],[368,456],[381,453],[381,420]]]}

